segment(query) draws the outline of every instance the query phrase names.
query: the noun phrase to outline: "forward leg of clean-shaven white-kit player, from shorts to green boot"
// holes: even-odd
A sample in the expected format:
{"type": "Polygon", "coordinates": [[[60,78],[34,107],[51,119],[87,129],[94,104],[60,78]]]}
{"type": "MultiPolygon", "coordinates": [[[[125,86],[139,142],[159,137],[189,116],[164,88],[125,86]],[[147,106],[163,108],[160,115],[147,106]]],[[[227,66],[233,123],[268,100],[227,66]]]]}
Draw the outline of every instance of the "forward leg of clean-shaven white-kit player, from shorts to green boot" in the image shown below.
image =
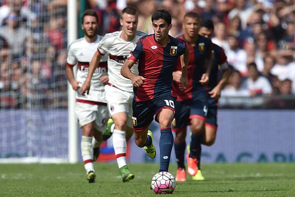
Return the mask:
{"type": "Polygon", "coordinates": [[[121,91],[115,87],[105,86],[105,98],[108,103],[109,113],[114,121],[115,127],[113,131],[113,147],[117,158],[119,172],[123,182],[134,178],[129,171],[126,161],[126,125],[128,109],[128,93],[121,91]]]}

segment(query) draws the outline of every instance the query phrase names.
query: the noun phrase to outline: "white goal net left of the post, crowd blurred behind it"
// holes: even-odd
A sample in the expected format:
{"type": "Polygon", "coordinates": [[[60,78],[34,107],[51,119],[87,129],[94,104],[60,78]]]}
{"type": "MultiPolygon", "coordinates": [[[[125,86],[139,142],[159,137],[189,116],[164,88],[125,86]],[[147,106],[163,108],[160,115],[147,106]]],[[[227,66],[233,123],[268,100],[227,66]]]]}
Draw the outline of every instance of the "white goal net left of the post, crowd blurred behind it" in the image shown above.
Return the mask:
{"type": "Polygon", "coordinates": [[[0,5],[0,162],[67,161],[67,5],[0,5]]]}

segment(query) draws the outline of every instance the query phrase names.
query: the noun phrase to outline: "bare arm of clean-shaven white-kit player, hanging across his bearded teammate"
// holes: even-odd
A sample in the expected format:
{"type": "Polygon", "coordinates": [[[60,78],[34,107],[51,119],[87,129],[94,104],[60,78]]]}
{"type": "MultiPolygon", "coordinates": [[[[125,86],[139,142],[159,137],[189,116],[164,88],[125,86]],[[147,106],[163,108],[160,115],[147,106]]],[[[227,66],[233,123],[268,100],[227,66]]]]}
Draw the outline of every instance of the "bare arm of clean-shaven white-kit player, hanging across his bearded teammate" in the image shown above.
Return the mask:
{"type": "Polygon", "coordinates": [[[89,94],[91,78],[92,78],[92,75],[93,75],[97,65],[99,64],[99,61],[100,61],[101,57],[102,57],[102,55],[97,50],[94,53],[94,55],[93,55],[93,57],[91,59],[91,62],[89,64],[89,68],[88,68],[89,70],[88,70],[87,78],[86,78],[86,80],[85,80],[85,82],[82,85],[81,90],[80,90],[81,95],[84,95],[85,92],[87,94],[89,94]]]}

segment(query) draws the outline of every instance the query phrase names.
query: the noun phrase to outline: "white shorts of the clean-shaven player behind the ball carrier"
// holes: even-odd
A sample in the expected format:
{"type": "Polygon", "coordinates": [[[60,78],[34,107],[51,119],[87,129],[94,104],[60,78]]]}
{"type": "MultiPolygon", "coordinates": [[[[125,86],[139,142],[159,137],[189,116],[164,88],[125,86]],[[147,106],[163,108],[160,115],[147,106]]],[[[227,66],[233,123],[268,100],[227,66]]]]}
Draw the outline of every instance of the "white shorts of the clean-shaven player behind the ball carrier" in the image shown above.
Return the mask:
{"type": "Polygon", "coordinates": [[[106,85],[105,99],[108,103],[109,113],[112,115],[119,112],[127,113],[127,126],[133,127],[132,125],[132,102],[133,102],[133,92],[122,91],[116,87],[106,85]]]}

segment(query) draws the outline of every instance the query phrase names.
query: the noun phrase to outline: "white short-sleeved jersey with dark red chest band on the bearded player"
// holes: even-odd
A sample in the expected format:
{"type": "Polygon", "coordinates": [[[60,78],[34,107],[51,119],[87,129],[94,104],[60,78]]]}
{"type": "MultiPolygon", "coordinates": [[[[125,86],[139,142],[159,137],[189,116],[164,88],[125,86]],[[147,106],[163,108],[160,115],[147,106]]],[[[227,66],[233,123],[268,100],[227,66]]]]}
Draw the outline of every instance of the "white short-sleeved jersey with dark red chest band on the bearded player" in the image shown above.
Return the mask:
{"type": "MultiPolygon", "coordinates": [[[[89,69],[89,62],[96,52],[98,42],[102,36],[97,36],[95,42],[89,43],[85,38],[75,40],[68,49],[67,65],[74,67],[78,66],[76,73],[76,80],[83,83],[85,82],[89,69]]],[[[103,56],[95,69],[91,79],[91,89],[88,95],[81,95],[77,91],[76,98],[82,100],[90,100],[97,102],[106,102],[104,95],[104,85],[100,82],[100,77],[107,75],[107,56],[103,56]]]]}

